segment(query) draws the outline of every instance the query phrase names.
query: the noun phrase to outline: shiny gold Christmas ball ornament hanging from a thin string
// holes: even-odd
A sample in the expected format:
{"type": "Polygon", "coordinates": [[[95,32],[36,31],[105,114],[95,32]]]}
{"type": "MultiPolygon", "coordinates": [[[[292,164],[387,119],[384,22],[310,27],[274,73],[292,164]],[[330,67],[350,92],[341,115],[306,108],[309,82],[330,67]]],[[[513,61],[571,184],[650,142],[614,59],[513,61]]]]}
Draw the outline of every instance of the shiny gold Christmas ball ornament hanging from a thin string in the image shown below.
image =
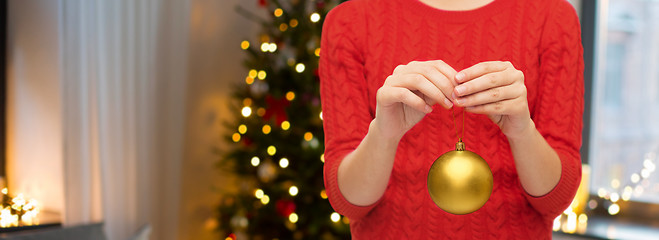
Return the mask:
{"type": "Polygon", "coordinates": [[[465,150],[462,140],[456,150],[442,154],[428,172],[428,192],[442,210],[468,214],[481,208],[492,194],[492,171],[478,154],[465,150]]]}

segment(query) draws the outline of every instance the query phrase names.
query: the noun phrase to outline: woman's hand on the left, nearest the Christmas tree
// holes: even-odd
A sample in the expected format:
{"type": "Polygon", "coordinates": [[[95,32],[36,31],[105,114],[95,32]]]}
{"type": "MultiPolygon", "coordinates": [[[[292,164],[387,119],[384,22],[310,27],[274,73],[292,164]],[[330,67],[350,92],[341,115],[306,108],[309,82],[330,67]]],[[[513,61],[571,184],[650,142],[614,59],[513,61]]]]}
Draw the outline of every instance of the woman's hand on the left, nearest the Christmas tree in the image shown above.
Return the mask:
{"type": "Polygon", "coordinates": [[[442,60],[412,61],[399,65],[377,92],[375,119],[378,130],[395,141],[405,135],[439,103],[453,107],[457,72],[442,60]]]}

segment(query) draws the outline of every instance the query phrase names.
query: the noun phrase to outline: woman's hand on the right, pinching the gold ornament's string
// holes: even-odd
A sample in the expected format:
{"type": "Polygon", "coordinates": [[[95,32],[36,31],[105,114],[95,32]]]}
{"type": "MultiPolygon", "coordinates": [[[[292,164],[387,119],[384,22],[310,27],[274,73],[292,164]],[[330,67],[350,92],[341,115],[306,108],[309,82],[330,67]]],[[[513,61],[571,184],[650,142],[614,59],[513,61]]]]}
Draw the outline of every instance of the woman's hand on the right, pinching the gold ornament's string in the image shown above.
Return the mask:
{"type": "Polygon", "coordinates": [[[510,62],[481,62],[455,75],[453,102],[472,113],[486,114],[508,138],[533,128],[524,73],[510,62]]]}

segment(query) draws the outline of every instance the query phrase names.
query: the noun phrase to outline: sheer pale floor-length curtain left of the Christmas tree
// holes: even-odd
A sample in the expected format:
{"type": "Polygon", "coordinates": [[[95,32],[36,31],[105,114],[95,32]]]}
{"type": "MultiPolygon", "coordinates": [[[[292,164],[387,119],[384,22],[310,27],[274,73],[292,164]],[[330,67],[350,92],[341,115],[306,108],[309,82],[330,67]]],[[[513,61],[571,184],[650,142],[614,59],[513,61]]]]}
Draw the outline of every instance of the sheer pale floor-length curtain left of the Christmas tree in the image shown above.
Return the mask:
{"type": "Polygon", "coordinates": [[[177,236],[188,4],[60,1],[66,225],[177,236]]]}

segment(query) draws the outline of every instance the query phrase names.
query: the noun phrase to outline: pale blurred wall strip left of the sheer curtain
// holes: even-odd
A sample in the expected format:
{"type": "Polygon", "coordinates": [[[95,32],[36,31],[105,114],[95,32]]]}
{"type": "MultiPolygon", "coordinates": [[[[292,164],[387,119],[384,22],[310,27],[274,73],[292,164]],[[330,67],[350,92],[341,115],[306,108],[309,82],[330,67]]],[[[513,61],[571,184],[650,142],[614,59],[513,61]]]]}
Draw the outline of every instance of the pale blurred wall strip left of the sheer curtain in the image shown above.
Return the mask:
{"type": "Polygon", "coordinates": [[[59,1],[10,1],[7,35],[9,190],[62,212],[59,1]],[[38,66],[38,67],[35,67],[38,66]]]}

